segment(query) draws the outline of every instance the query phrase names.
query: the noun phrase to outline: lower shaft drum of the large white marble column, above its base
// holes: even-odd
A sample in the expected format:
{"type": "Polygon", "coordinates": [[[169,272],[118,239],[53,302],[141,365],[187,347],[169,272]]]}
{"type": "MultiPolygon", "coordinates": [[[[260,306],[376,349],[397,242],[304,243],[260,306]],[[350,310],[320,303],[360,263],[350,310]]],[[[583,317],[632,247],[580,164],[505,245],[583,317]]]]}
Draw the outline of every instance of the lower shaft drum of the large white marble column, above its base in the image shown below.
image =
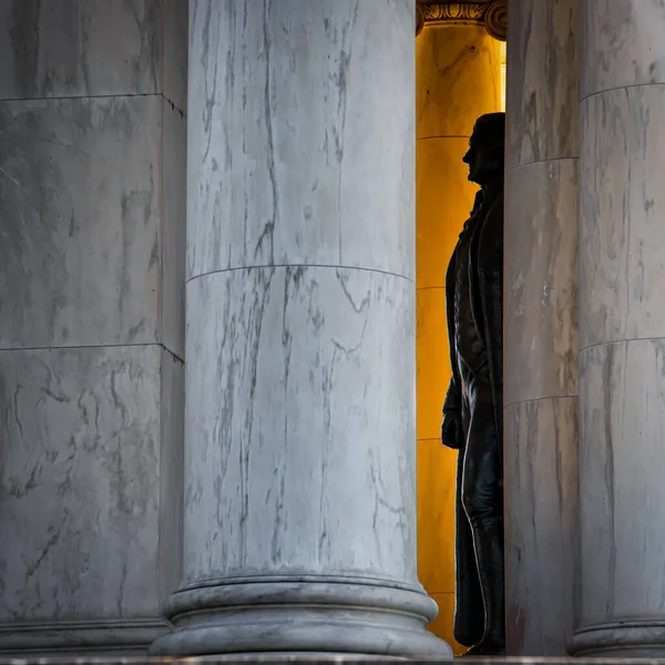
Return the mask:
{"type": "Polygon", "coordinates": [[[187,283],[185,581],[417,583],[415,309],[372,270],[187,283]]]}

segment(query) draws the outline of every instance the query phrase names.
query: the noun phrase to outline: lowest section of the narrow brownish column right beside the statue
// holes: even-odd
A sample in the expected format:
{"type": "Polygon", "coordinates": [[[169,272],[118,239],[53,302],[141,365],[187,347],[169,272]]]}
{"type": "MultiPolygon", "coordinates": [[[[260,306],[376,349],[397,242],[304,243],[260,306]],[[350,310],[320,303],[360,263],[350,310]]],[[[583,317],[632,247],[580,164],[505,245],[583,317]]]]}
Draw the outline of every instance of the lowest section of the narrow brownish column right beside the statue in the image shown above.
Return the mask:
{"type": "Polygon", "coordinates": [[[504,409],[508,653],[564,656],[579,543],[577,399],[504,409]]]}

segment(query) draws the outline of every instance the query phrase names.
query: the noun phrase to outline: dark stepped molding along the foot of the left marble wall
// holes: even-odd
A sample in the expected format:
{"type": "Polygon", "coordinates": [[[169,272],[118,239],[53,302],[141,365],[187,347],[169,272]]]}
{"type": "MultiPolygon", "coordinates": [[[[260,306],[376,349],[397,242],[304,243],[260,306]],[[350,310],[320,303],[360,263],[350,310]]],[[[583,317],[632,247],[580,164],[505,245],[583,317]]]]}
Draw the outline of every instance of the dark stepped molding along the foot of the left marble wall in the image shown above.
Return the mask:
{"type": "Polygon", "coordinates": [[[163,618],[0,623],[0,655],[144,656],[147,647],[170,630],[163,618]]]}

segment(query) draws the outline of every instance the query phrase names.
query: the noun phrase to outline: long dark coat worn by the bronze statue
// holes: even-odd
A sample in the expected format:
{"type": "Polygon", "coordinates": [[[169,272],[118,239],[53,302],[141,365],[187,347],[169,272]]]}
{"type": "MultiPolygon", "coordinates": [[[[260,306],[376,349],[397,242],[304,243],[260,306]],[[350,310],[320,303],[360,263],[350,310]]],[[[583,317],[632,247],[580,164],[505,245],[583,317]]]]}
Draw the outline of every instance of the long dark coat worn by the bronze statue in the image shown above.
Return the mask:
{"type": "MultiPolygon", "coordinates": [[[[490,378],[494,403],[494,421],[497,432],[503,450],[503,187],[498,187],[493,201],[488,200],[478,205],[481,197],[477,196],[477,205],[473,214],[480,214],[480,218],[471,231],[470,253],[470,284],[479,298],[472,303],[479,303],[482,307],[482,316],[473,318],[482,320],[483,329],[479,330],[484,340],[488,351],[490,378]]],[[[464,233],[464,232],[462,232],[464,233]]],[[[457,275],[457,256],[459,242],[446,275],[448,336],[450,340],[450,362],[452,366],[452,379],[446,396],[443,406],[444,413],[454,413],[462,420],[462,393],[460,376],[458,371],[458,359],[454,349],[454,288],[457,275]]],[[[464,432],[464,436],[467,432],[464,432]]],[[[447,446],[451,442],[444,441],[447,446]]],[[[473,541],[471,528],[467,520],[464,509],[461,504],[461,471],[464,459],[466,440],[460,444],[457,474],[457,500],[456,500],[456,613],[454,613],[454,638],[463,645],[478,644],[483,635],[484,615],[478,569],[473,554],[473,541]]],[[[501,460],[501,468],[503,460],[501,460]]]]}

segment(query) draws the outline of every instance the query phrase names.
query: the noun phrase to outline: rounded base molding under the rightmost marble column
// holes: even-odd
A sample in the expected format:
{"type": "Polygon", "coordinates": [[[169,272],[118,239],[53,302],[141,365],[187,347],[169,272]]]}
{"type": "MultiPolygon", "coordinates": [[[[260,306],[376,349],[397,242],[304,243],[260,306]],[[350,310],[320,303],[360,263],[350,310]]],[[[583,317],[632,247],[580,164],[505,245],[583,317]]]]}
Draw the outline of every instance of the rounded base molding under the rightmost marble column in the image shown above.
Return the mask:
{"type": "Polygon", "coordinates": [[[617,621],[575,631],[571,656],[665,658],[665,617],[617,621]]]}

